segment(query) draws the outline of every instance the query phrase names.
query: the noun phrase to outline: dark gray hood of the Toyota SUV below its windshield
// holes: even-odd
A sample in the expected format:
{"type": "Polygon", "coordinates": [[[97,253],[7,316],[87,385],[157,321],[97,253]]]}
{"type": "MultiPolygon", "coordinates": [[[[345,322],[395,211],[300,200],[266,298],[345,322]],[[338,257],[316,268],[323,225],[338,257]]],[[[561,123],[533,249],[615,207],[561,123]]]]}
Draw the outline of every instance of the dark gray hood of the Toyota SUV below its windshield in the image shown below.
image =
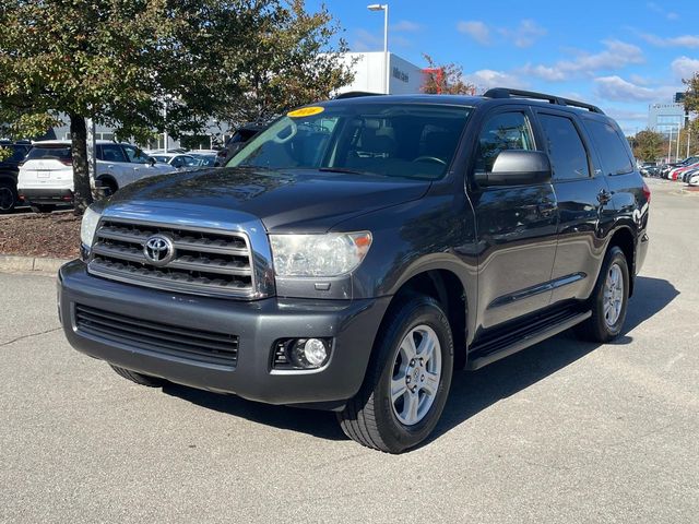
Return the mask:
{"type": "Polygon", "coordinates": [[[220,209],[256,216],[268,231],[325,231],[339,222],[419,199],[425,180],[381,176],[213,168],[157,176],[131,183],[109,205],[220,209]]]}

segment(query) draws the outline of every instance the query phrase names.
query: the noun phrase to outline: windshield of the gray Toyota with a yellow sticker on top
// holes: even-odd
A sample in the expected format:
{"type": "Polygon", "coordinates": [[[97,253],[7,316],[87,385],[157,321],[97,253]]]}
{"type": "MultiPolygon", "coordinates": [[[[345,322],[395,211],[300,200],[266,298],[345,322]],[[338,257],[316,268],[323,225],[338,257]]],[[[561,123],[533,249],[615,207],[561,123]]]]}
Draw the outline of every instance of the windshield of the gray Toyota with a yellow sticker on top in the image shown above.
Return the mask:
{"type": "Polygon", "coordinates": [[[441,178],[471,108],[436,104],[337,104],[289,112],[227,167],[319,169],[441,178]]]}

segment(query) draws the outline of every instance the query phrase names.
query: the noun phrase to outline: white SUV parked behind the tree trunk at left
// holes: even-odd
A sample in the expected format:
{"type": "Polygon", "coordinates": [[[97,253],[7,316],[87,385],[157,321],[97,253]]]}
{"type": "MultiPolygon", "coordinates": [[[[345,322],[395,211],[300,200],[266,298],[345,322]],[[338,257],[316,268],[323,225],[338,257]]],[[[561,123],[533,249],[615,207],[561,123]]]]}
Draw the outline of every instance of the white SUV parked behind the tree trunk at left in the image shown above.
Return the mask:
{"type": "MultiPolygon", "coordinates": [[[[141,178],[175,172],[167,164],[157,163],[131,144],[97,141],[97,175],[93,187],[106,194],[141,178]]],[[[17,177],[20,199],[35,212],[51,211],[58,203],[73,201],[73,164],[70,141],[34,142],[20,166],[17,177]]]]}

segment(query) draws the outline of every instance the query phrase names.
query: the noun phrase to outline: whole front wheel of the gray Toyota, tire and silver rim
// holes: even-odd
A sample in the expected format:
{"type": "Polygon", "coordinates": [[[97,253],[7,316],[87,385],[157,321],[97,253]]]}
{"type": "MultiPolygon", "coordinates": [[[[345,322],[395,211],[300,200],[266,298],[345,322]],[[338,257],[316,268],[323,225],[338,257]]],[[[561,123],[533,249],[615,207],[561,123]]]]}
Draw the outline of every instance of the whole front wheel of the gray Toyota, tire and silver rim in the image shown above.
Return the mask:
{"type": "Polygon", "coordinates": [[[381,326],[362,389],[337,414],[347,437],[388,453],[429,436],[453,372],[453,340],[441,306],[426,296],[405,298],[381,326]]]}

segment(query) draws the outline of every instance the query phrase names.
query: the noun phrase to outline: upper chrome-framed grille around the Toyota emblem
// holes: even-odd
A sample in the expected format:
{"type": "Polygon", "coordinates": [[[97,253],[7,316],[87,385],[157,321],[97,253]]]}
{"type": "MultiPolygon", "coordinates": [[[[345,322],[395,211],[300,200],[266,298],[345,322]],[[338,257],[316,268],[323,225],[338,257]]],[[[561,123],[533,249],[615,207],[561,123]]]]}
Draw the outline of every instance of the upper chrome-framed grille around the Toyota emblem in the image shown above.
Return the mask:
{"type": "Polygon", "coordinates": [[[130,284],[200,295],[250,296],[250,247],[241,233],[212,231],[106,218],[95,234],[90,273],[130,284]],[[175,254],[156,266],[143,247],[155,234],[171,238],[175,254]]]}

